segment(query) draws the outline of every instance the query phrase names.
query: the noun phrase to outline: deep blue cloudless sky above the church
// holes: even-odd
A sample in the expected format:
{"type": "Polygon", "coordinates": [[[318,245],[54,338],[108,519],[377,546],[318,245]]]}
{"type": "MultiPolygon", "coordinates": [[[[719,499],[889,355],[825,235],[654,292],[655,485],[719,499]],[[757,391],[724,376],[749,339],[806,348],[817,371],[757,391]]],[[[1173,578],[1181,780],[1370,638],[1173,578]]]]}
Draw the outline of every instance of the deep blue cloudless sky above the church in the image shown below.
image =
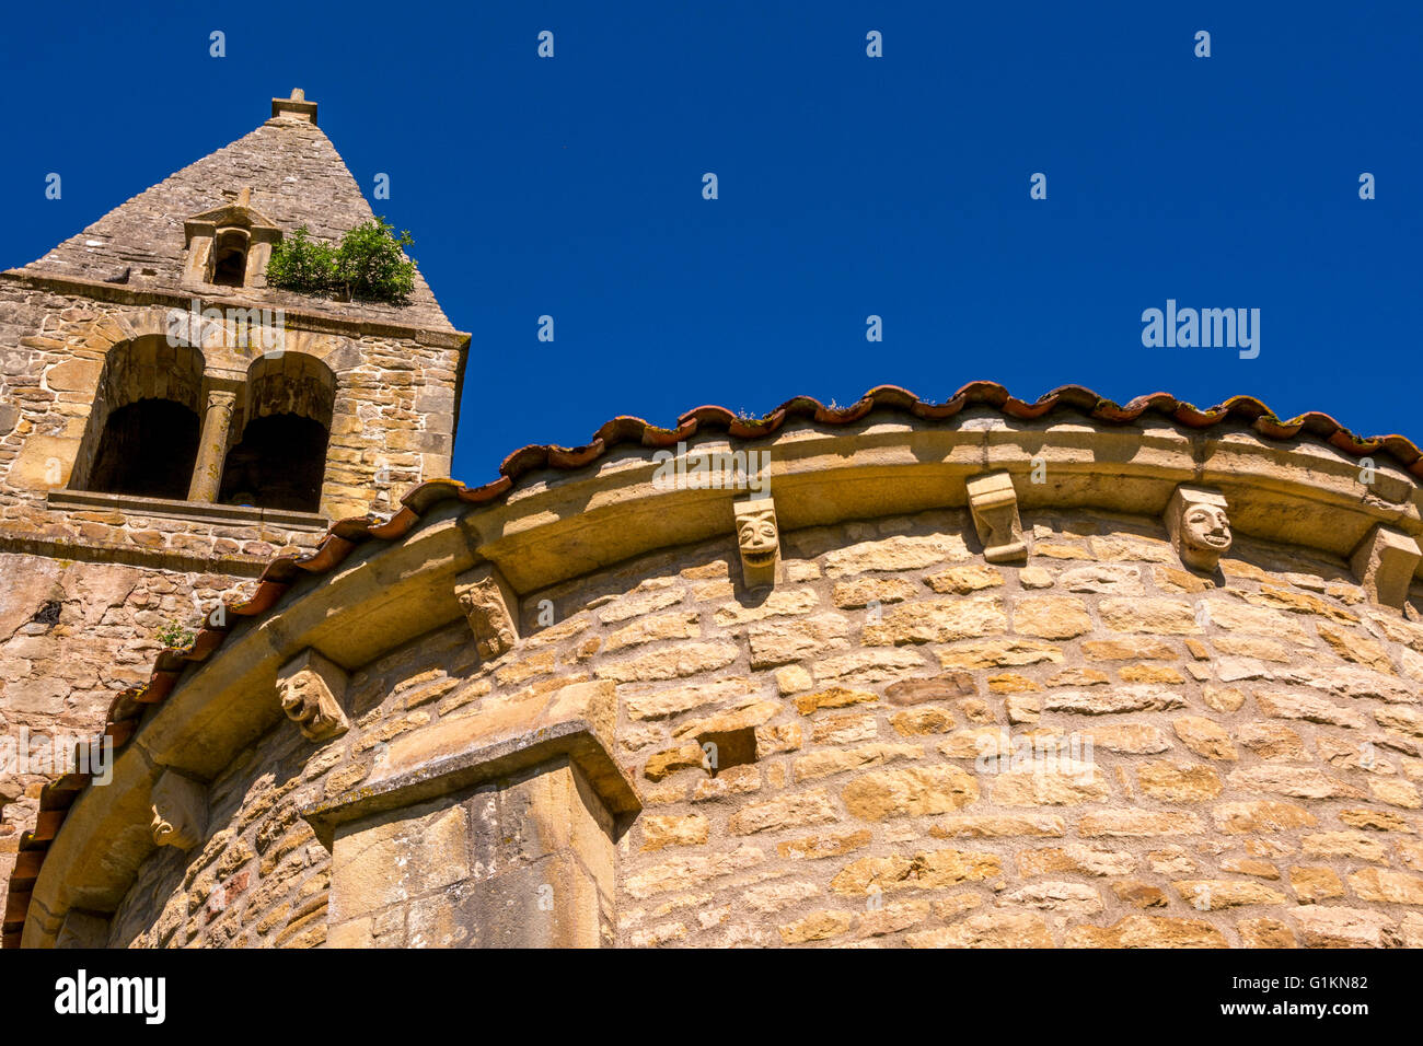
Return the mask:
{"type": "Polygon", "coordinates": [[[1417,3],[11,4],[0,268],[300,85],[474,336],[470,482],[615,414],[976,379],[1423,440],[1420,38],[1417,3]],[[1259,309],[1259,356],[1143,347],[1167,299],[1259,309]]]}

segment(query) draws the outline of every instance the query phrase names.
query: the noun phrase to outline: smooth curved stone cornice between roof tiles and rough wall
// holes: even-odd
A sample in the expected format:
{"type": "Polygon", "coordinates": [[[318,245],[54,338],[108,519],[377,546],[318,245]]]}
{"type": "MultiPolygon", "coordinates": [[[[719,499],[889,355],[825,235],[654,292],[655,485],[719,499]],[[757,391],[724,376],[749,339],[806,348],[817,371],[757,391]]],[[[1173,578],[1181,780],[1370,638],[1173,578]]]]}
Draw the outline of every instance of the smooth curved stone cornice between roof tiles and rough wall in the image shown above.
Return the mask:
{"type": "MultiPolygon", "coordinates": [[[[717,538],[734,549],[733,501],[744,491],[659,487],[653,447],[683,435],[659,433],[632,447],[603,441],[596,453],[544,448],[532,467],[511,465],[518,457],[511,455],[504,477],[482,488],[424,484],[393,519],[343,521],[313,556],[269,566],[256,595],[226,609],[225,628],[209,625],[186,650],[165,652],[149,686],[115,700],[108,733],[122,747],[114,780],[83,791],[83,781],[68,781],[78,798],[67,817],[67,800],[53,800],[63,830],[51,833],[34,872],[23,944],[53,944],[71,908],[118,905],[152,850],[151,790],[159,774],[172,768],[212,780],[280,722],[277,672],[302,650],[354,670],[462,618],[455,579],[484,562],[522,595],[659,549],[717,538]],[[283,605],[272,612],[277,599],[283,605]],[[105,845],[92,847],[95,838],[105,845]]],[[[683,438],[699,451],[747,447],[714,428],[699,435],[693,427],[683,438]]],[[[1312,440],[1275,443],[1228,417],[1192,428],[1144,411],[1111,424],[1054,413],[1022,420],[990,406],[961,407],[952,421],[867,410],[834,424],[783,418],[754,447],[770,453],[783,534],[966,508],[966,481],[1005,470],[1025,512],[1160,517],[1178,485],[1194,484],[1225,495],[1238,535],[1336,561],[1380,524],[1423,537],[1423,494],[1397,457],[1380,455],[1365,485],[1356,454],[1312,440]],[[1040,484],[1030,475],[1039,465],[1040,484]]],[[[965,538],[976,546],[972,525],[965,538]]],[[[21,842],[23,851],[36,848],[44,841],[21,842]]],[[[11,887],[13,898],[30,892],[11,887]]]]}

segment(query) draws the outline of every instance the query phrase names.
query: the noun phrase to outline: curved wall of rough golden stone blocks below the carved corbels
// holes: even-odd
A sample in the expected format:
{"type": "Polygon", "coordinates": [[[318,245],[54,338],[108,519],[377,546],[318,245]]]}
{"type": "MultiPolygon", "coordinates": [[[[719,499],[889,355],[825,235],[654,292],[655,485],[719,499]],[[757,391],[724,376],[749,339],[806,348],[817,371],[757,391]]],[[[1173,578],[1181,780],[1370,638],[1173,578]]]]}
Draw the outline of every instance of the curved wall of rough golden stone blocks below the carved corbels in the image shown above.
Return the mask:
{"type": "MultiPolygon", "coordinates": [[[[326,942],[300,811],[397,739],[588,680],[642,800],[606,827],[620,945],[1423,946],[1423,592],[1400,615],[1342,559],[1245,538],[1188,571],[1146,517],[1023,528],[1022,566],[966,511],[790,531],[750,593],[727,538],[522,593],[492,660],[462,620],[427,633],[351,670],[343,736],[279,720],[242,751],[110,944],[326,942]]],[[[424,887],[495,895],[538,860],[424,887]]],[[[332,944],[470,942],[381,911],[332,944]]]]}

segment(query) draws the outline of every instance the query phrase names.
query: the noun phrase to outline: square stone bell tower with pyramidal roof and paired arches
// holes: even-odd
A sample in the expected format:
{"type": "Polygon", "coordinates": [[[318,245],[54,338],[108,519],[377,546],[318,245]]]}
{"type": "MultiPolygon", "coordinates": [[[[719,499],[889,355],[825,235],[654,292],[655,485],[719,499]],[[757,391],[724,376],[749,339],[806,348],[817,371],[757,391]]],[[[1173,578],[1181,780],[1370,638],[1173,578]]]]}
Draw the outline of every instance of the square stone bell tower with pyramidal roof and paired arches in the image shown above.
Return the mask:
{"type": "Polygon", "coordinates": [[[0,747],[0,882],[46,831],[41,746],[87,740],[272,558],[450,474],[470,336],[424,278],[398,306],[266,285],[297,226],[334,242],[373,218],[316,118],[273,98],[0,273],[0,737],[30,746],[0,747]]]}

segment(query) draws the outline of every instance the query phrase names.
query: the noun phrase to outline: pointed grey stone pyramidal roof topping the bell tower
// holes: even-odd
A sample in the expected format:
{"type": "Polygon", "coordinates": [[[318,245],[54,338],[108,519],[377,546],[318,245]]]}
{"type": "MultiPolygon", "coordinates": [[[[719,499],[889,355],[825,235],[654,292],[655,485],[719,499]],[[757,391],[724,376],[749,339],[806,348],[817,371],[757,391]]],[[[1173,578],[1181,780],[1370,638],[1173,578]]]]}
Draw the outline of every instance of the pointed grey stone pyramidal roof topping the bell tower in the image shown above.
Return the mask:
{"type": "MultiPolygon", "coordinates": [[[[313,238],[336,241],[370,219],[360,186],[316,127],[316,104],[296,91],[290,100],[275,98],[272,112],[246,137],[121,204],[18,272],[185,293],[185,222],[243,208],[286,235],[305,223],[313,238]],[[125,269],[128,278],[122,279],[125,269]]],[[[333,317],[453,330],[418,273],[407,306],[329,302],[255,287],[243,287],[238,296],[333,317]]]]}

